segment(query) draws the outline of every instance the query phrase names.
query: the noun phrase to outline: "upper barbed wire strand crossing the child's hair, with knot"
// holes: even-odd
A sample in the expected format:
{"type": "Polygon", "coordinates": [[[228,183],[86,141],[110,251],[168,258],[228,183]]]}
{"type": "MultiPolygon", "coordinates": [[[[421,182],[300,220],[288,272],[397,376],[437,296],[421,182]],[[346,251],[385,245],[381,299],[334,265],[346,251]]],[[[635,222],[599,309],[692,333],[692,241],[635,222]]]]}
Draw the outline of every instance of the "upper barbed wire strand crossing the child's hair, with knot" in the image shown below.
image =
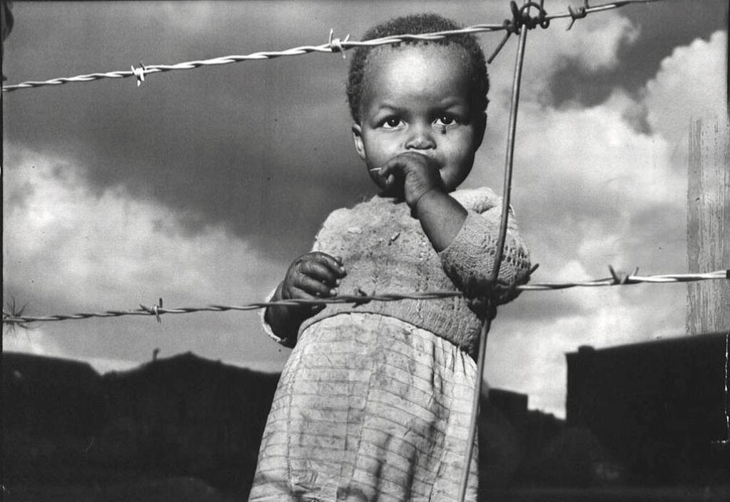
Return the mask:
{"type": "MultiPolygon", "coordinates": [[[[572,7],[568,7],[568,12],[556,14],[556,15],[548,15],[547,12],[545,12],[544,7],[542,7],[542,1],[540,4],[535,4],[534,2],[530,2],[531,7],[537,7],[540,11],[540,14],[538,16],[538,20],[541,23],[541,26],[543,28],[547,28],[547,24],[550,22],[550,20],[553,19],[560,19],[560,18],[572,18],[570,26],[568,26],[568,29],[571,28],[573,23],[575,23],[575,20],[585,18],[590,13],[593,12],[602,12],[604,10],[609,9],[616,9],[618,7],[623,7],[627,4],[645,4],[650,3],[653,1],[661,1],[661,0],[621,0],[621,1],[612,1],[607,4],[599,4],[595,5],[593,7],[588,5],[588,0],[584,0],[584,4],[582,7],[578,7],[577,9],[573,9],[572,7]]],[[[128,78],[128,77],[137,77],[137,85],[139,86],[142,82],[145,82],[145,75],[153,74],[153,73],[161,73],[161,72],[174,72],[177,70],[190,70],[190,69],[196,69],[200,68],[201,66],[220,66],[223,64],[230,64],[230,63],[240,63],[243,61],[258,61],[258,60],[265,60],[265,59],[274,59],[274,58],[280,58],[283,56],[293,56],[293,55],[304,55],[308,53],[342,53],[342,56],[345,56],[345,50],[352,49],[354,47],[374,47],[377,45],[388,45],[388,44],[396,44],[399,42],[404,42],[407,40],[438,40],[438,39],[444,39],[447,36],[456,36],[456,35],[463,35],[463,34],[477,34],[477,33],[485,33],[485,32],[491,32],[491,31],[507,31],[507,35],[504,37],[502,42],[498,45],[497,49],[489,58],[489,62],[493,60],[493,58],[496,56],[496,53],[499,53],[499,50],[504,45],[504,42],[507,41],[507,38],[509,38],[511,33],[518,33],[520,30],[520,26],[522,26],[524,23],[528,23],[530,19],[535,18],[529,18],[529,15],[527,15],[526,11],[523,9],[516,9],[516,4],[514,1],[511,2],[512,5],[512,15],[513,18],[511,20],[504,20],[503,23],[500,24],[477,24],[473,26],[467,26],[466,28],[461,28],[458,30],[450,30],[450,31],[435,31],[430,34],[403,34],[399,36],[385,36],[383,38],[378,39],[371,39],[371,40],[364,40],[364,41],[355,41],[350,40],[350,35],[348,34],[345,36],[344,39],[339,38],[333,38],[333,31],[330,30],[329,33],[329,39],[328,42],[321,45],[302,45],[300,47],[292,47],[291,49],[286,50],[279,50],[279,51],[261,51],[257,53],[250,53],[245,55],[227,55],[222,56],[219,58],[211,58],[211,59],[204,59],[204,60],[198,60],[198,61],[186,61],[185,63],[176,63],[176,64],[153,64],[153,65],[145,65],[142,63],[142,61],[139,62],[139,67],[135,68],[134,65],[131,66],[131,69],[128,71],[118,71],[118,72],[104,72],[104,73],[91,73],[91,74],[83,74],[83,75],[77,75],[75,77],[61,77],[61,78],[54,78],[50,80],[43,80],[43,81],[35,81],[35,80],[28,80],[26,82],[20,82],[19,84],[15,85],[4,85],[2,88],[2,91],[4,93],[11,92],[13,90],[19,90],[19,89],[28,89],[28,88],[39,88],[44,87],[47,85],[63,85],[67,83],[77,83],[77,82],[91,82],[93,80],[101,80],[101,79],[107,79],[107,78],[128,78]],[[521,18],[518,18],[516,15],[516,12],[520,12],[522,14],[521,18]]]]}

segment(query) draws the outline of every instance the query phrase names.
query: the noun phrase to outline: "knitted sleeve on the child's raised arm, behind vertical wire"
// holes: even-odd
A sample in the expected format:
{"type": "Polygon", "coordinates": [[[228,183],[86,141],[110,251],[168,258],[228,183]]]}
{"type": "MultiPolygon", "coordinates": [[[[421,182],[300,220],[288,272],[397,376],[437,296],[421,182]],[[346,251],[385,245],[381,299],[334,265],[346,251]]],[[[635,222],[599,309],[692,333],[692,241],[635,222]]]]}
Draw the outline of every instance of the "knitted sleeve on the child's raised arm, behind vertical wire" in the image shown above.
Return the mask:
{"type": "MultiPolygon", "coordinates": [[[[494,266],[496,247],[499,244],[499,225],[502,204],[467,209],[466,220],[451,244],[439,252],[446,275],[466,296],[480,296],[494,266]],[[480,211],[483,209],[483,211],[480,211]]],[[[504,255],[499,267],[499,279],[508,285],[520,285],[529,280],[529,250],[520,238],[517,223],[510,207],[507,220],[507,238],[504,255]]],[[[506,304],[516,298],[512,291],[499,298],[506,304]]]]}

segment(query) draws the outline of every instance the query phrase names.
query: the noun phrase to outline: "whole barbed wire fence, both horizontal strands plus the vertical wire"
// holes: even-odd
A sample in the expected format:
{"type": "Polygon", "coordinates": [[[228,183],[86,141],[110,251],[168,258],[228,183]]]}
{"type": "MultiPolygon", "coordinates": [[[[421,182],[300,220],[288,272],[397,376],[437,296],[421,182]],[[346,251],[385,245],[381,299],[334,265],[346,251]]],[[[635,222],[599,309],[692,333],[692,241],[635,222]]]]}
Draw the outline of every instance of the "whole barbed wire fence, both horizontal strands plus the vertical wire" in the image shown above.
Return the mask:
{"type": "MultiPolygon", "coordinates": [[[[515,64],[515,77],[512,88],[512,104],[510,109],[510,131],[507,139],[507,161],[505,167],[505,182],[504,182],[504,195],[503,195],[503,208],[502,208],[502,221],[500,225],[499,244],[496,248],[496,260],[494,267],[490,274],[490,282],[495,283],[496,276],[499,271],[499,266],[502,261],[502,253],[504,251],[504,236],[507,231],[507,207],[509,206],[510,190],[511,190],[511,177],[512,177],[512,153],[515,147],[515,123],[517,116],[518,100],[519,100],[519,87],[520,87],[520,74],[524,56],[524,45],[526,40],[527,29],[522,28],[535,28],[541,26],[542,28],[548,28],[550,20],[558,18],[571,18],[571,22],[566,29],[572,28],[573,24],[577,19],[585,18],[589,13],[600,12],[607,9],[615,9],[617,7],[623,7],[627,4],[638,4],[648,3],[651,1],[658,0],[621,0],[614,1],[609,4],[601,4],[591,7],[588,4],[588,0],[583,1],[583,6],[577,9],[568,7],[568,12],[565,14],[548,15],[544,8],[544,0],[539,0],[539,4],[535,1],[526,0],[522,7],[518,7],[516,2],[513,0],[510,2],[510,8],[512,10],[512,19],[504,20],[502,25],[475,25],[469,26],[468,28],[462,28],[460,30],[453,31],[441,31],[431,34],[404,34],[400,36],[385,37],[383,39],[374,39],[364,42],[350,41],[350,35],[345,36],[345,39],[333,38],[333,31],[330,30],[328,43],[318,46],[301,46],[294,47],[293,49],[284,51],[269,51],[253,53],[249,55],[231,55],[223,58],[213,58],[204,61],[188,61],[187,63],[177,63],[174,65],[151,65],[145,66],[142,61],[139,63],[139,68],[131,66],[130,72],[108,72],[108,73],[96,73],[79,75],[77,77],[60,78],[53,80],[46,80],[44,82],[22,82],[18,85],[9,85],[2,88],[3,92],[9,92],[20,88],[36,88],[44,85],[61,85],[69,82],[88,82],[92,80],[99,80],[102,78],[126,78],[134,76],[137,78],[137,86],[141,85],[145,81],[146,74],[158,73],[158,72],[169,72],[174,70],[183,69],[195,69],[201,66],[217,66],[222,64],[237,63],[241,61],[250,60],[261,60],[261,59],[272,59],[281,56],[288,55],[302,55],[312,52],[324,52],[324,53],[342,53],[343,58],[345,57],[345,50],[353,47],[362,46],[377,46],[386,44],[395,44],[404,42],[407,40],[432,40],[432,39],[443,39],[446,36],[456,36],[457,34],[474,34],[479,32],[487,31],[505,31],[504,38],[496,46],[493,54],[488,58],[488,63],[491,63],[496,55],[502,50],[511,34],[520,34],[520,42],[518,46],[518,57],[517,63],[515,64]],[[530,9],[537,8],[538,15],[531,16],[530,9]]],[[[664,274],[648,277],[638,276],[638,269],[633,274],[626,274],[620,276],[615,272],[612,267],[609,267],[611,277],[604,279],[594,279],[585,282],[563,282],[563,283],[539,283],[533,285],[518,285],[512,287],[504,287],[508,291],[514,290],[562,290],[569,287],[598,287],[598,286],[613,286],[613,285],[634,285],[641,282],[691,282],[699,280],[710,280],[710,279],[730,279],[730,270],[718,270],[705,274],[664,274]]],[[[534,269],[531,270],[531,272],[534,269]]],[[[460,501],[464,501],[466,498],[466,487],[467,480],[469,477],[469,465],[472,458],[472,447],[474,444],[476,434],[476,420],[479,399],[481,395],[481,386],[483,382],[483,368],[485,362],[485,347],[487,342],[487,336],[491,327],[491,320],[496,315],[496,304],[493,299],[496,298],[496,292],[499,291],[499,284],[489,288],[489,295],[485,302],[485,321],[482,325],[480,333],[480,347],[477,358],[477,385],[475,386],[472,402],[472,413],[470,417],[469,426],[469,439],[467,441],[467,449],[464,461],[464,473],[461,479],[460,487],[460,501]]],[[[266,301],[257,302],[253,304],[247,304],[243,306],[221,306],[221,305],[209,305],[202,307],[183,307],[176,309],[165,309],[163,306],[162,298],[159,299],[158,305],[144,306],[139,305],[139,309],[131,311],[106,311],[96,313],[80,313],[80,314],[55,314],[50,316],[24,316],[22,315],[23,309],[18,312],[3,312],[3,324],[11,326],[22,326],[26,327],[27,323],[40,322],[40,321],[60,321],[60,320],[71,320],[71,319],[88,319],[91,317],[121,317],[126,315],[154,315],[159,322],[161,322],[161,314],[185,314],[192,312],[226,312],[231,310],[252,310],[261,309],[267,306],[274,305],[318,305],[318,304],[335,304],[335,303],[352,303],[356,306],[366,304],[369,301],[401,301],[406,299],[433,299],[433,298],[449,298],[456,296],[463,296],[462,293],[456,291],[432,291],[432,292],[420,292],[410,294],[396,294],[396,293],[385,293],[385,294],[372,294],[367,295],[366,293],[358,290],[356,295],[345,295],[337,296],[335,298],[315,298],[312,300],[280,300],[280,301],[266,301]]],[[[14,309],[15,310],[15,309],[14,309]]]]}

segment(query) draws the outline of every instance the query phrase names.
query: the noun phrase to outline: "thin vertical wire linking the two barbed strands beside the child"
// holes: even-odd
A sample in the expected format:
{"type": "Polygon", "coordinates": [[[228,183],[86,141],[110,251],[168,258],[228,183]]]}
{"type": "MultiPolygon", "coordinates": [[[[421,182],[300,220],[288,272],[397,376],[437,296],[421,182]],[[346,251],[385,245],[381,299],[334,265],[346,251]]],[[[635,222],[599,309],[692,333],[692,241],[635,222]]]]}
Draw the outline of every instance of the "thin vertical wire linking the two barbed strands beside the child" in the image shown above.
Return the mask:
{"type": "MultiPolygon", "coordinates": [[[[527,39],[527,27],[523,26],[520,31],[520,39],[517,47],[517,59],[515,61],[515,76],[512,80],[512,105],[510,107],[510,126],[507,131],[507,158],[504,161],[504,185],[502,186],[502,221],[499,225],[499,241],[497,242],[494,265],[490,274],[491,284],[496,283],[499,277],[499,267],[502,264],[504,255],[504,241],[507,239],[507,221],[510,210],[510,193],[512,190],[512,165],[515,155],[515,132],[517,131],[517,109],[520,99],[520,81],[522,80],[522,64],[525,59],[525,42],[527,39]]],[[[495,309],[496,305],[489,306],[495,309]]],[[[485,323],[482,325],[482,332],[479,340],[479,357],[477,358],[477,382],[472,400],[472,417],[469,421],[469,438],[466,440],[466,456],[464,457],[464,471],[461,476],[461,490],[458,500],[464,502],[466,497],[466,484],[469,482],[469,466],[472,463],[474,453],[474,441],[477,434],[477,417],[479,414],[479,401],[482,394],[484,360],[487,348],[487,336],[491,328],[491,314],[488,314],[485,323]]]]}

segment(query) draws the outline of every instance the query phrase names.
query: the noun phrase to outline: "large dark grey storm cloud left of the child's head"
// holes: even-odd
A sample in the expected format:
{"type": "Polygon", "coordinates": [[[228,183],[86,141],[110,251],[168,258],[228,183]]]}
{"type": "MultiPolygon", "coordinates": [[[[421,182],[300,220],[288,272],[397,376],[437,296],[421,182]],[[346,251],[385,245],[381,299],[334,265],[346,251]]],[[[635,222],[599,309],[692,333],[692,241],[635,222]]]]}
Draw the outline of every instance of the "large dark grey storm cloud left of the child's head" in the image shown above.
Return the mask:
{"type": "MultiPolygon", "coordinates": [[[[377,20],[369,4],[332,5],[307,6],[299,23],[303,7],[285,3],[21,3],[6,72],[18,82],[280,50],[377,20]]],[[[328,212],[375,191],[352,147],[348,63],[311,54],[151,74],[140,88],[20,90],[6,98],[6,138],[77,159],[99,193],[121,186],[169,206],[191,233],[222,223],[291,258],[328,212]]]]}

